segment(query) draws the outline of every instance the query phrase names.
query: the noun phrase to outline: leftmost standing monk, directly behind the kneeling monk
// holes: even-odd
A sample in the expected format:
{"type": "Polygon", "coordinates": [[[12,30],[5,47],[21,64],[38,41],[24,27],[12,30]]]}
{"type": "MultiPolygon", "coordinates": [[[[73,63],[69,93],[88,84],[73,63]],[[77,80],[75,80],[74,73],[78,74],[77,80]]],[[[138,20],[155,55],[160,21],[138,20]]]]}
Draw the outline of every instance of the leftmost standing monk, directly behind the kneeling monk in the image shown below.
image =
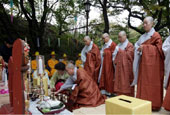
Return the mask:
{"type": "Polygon", "coordinates": [[[97,83],[101,64],[100,50],[89,36],[84,37],[84,43],[85,46],[81,51],[81,60],[83,61],[84,69],[97,83]]]}

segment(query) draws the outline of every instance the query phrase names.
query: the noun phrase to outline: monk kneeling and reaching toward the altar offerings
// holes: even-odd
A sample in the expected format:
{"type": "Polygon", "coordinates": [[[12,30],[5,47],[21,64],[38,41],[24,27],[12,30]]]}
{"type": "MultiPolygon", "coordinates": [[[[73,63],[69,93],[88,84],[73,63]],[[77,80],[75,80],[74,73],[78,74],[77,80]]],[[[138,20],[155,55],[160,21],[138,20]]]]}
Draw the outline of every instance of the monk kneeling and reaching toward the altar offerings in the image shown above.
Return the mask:
{"type": "Polygon", "coordinates": [[[100,93],[97,84],[83,68],[77,69],[72,63],[68,63],[66,71],[70,77],[56,93],[67,88],[72,89],[68,102],[70,110],[80,107],[96,107],[105,102],[105,96],[100,93]]]}

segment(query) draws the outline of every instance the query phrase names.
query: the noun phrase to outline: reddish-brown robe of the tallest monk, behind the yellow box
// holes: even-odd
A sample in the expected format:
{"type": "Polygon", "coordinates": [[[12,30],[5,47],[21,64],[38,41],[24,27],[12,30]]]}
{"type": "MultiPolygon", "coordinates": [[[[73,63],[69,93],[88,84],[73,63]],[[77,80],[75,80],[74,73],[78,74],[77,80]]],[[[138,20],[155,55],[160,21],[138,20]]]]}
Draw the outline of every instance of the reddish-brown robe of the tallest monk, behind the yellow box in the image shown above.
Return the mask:
{"type": "Polygon", "coordinates": [[[164,54],[159,33],[143,44],[137,84],[137,98],[152,102],[152,109],[159,110],[163,101],[164,54]]]}

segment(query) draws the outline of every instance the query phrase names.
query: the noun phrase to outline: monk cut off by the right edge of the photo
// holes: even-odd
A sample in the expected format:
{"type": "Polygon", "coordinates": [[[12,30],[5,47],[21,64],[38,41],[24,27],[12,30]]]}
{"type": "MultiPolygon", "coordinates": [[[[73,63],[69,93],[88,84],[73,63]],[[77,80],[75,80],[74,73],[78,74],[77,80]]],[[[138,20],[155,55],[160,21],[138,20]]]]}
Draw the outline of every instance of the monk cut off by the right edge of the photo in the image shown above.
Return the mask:
{"type": "Polygon", "coordinates": [[[165,55],[165,80],[164,87],[166,89],[166,95],[163,102],[163,107],[170,111],[170,36],[164,41],[162,50],[165,55]]]}

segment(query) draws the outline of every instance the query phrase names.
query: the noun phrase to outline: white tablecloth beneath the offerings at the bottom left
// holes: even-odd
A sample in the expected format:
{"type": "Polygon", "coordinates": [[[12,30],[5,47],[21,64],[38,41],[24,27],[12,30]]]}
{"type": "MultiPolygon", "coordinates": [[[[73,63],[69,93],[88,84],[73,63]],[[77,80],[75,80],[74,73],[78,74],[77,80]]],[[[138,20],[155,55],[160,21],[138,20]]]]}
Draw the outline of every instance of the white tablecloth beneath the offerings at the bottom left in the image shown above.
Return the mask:
{"type": "MultiPolygon", "coordinates": [[[[36,101],[30,101],[30,107],[29,107],[29,112],[32,113],[32,115],[43,115],[38,109],[37,109],[37,102],[39,99],[36,101]]],[[[70,111],[65,109],[64,111],[60,112],[59,115],[73,115],[70,111]]]]}

